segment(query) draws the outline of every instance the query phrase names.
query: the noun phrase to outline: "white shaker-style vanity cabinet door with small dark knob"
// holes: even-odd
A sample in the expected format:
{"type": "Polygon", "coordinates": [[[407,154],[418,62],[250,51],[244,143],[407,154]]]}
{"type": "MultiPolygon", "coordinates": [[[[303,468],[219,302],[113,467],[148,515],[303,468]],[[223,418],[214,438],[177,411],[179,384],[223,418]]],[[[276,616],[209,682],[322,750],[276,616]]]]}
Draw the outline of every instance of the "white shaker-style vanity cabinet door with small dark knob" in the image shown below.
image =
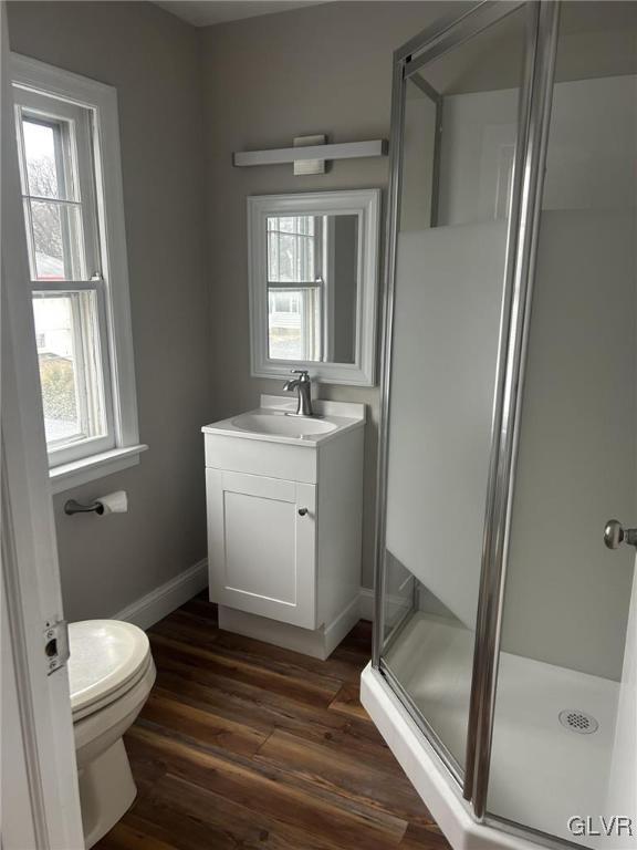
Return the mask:
{"type": "Polygon", "coordinates": [[[316,628],[316,487],[206,470],[210,599],[316,628]]]}

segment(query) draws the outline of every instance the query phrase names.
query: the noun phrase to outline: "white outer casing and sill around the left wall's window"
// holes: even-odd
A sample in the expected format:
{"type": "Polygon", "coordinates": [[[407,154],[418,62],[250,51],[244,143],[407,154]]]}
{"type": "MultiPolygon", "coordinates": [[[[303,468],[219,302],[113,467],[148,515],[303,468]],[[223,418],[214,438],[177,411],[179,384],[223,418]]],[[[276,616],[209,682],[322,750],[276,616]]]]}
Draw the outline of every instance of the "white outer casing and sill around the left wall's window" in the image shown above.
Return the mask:
{"type": "MultiPolygon", "coordinates": [[[[13,85],[21,90],[58,99],[62,105],[71,103],[90,108],[94,114],[95,201],[100,220],[101,291],[105,302],[105,309],[100,312],[105,314],[101,332],[102,345],[106,349],[104,381],[108,386],[105,392],[112,410],[111,445],[101,444],[98,450],[87,456],[66,454],[62,463],[51,466],[52,491],[61,493],[137,464],[139,454],[147,448],[139,443],[137,422],[117,92],[113,86],[15,53],[11,55],[11,74],[13,85]]],[[[75,289],[76,284],[69,288],[75,289]]],[[[35,342],[30,339],[23,344],[35,342]]]]}

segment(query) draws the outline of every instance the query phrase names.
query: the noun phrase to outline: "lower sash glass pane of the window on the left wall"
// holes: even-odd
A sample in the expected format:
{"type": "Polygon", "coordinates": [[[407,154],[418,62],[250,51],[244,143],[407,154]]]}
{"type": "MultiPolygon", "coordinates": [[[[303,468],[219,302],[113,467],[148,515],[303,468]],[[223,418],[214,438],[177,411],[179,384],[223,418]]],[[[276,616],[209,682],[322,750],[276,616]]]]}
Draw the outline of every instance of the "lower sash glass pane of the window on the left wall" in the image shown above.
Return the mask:
{"type": "Polygon", "coordinates": [[[33,313],[49,449],[104,435],[95,292],[35,294],[33,313]]]}

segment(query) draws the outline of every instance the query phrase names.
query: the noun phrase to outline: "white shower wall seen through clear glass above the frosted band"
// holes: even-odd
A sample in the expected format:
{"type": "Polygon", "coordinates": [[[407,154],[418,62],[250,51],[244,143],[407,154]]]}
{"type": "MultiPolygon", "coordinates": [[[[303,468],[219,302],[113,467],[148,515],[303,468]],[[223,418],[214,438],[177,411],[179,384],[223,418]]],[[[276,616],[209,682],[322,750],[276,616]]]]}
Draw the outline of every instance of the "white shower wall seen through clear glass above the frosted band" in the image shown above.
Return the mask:
{"type": "MultiPolygon", "coordinates": [[[[442,100],[439,222],[501,219],[511,187],[518,91],[442,100]]],[[[556,83],[543,209],[635,206],[637,76],[556,83]]]]}

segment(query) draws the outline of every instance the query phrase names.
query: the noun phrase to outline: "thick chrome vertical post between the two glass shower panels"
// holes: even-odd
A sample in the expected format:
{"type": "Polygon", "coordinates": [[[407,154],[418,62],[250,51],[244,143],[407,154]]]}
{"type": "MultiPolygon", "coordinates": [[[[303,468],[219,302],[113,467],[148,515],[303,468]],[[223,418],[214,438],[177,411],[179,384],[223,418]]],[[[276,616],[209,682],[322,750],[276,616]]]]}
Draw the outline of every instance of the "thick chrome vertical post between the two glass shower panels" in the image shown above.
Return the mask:
{"type": "Polygon", "coordinates": [[[507,289],[498,352],[463,787],[463,796],[472,801],[473,813],[480,820],[485,813],[489,787],[500,628],[553,99],[558,11],[556,0],[540,6],[535,49],[526,70],[530,85],[521,99],[520,137],[514,165],[516,176],[507,246],[507,289]]]}

